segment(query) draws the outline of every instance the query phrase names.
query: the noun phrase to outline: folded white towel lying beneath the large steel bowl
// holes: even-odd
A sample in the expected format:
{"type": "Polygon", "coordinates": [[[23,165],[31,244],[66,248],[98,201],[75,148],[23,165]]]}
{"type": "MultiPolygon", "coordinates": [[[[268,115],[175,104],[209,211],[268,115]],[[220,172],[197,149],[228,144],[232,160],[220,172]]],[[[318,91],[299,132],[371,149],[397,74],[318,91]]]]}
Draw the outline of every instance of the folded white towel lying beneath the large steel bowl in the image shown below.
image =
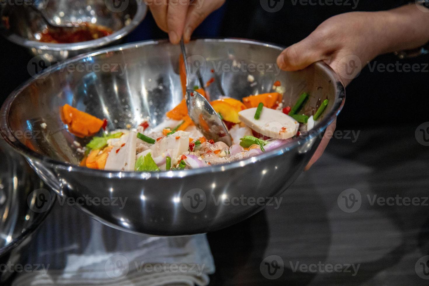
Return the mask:
{"type": "Polygon", "coordinates": [[[205,235],[160,238],[112,229],[58,201],[12,286],[198,285],[215,272],[205,235]]]}

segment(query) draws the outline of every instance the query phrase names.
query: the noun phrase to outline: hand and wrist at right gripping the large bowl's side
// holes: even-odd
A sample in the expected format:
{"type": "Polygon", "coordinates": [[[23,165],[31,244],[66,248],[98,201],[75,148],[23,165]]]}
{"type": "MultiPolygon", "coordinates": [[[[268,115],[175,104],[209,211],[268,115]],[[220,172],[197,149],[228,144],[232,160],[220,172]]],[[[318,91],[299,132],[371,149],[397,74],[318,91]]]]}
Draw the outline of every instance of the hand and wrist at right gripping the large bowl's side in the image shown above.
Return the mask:
{"type": "MultiPolygon", "coordinates": [[[[285,49],[277,59],[281,69],[295,71],[323,60],[344,85],[359,75],[364,65],[379,54],[419,47],[429,39],[429,13],[414,5],[381,12],[350,12],[324,21],[302,41],[285,49]],[[419,23],[416,25],[415,23],[419,23]],[[427,27],[427,26],[426,26],[427,27]]],[[[333,134],[336,120],[327,127],[308,170],[323,154],[333,134]]]]}

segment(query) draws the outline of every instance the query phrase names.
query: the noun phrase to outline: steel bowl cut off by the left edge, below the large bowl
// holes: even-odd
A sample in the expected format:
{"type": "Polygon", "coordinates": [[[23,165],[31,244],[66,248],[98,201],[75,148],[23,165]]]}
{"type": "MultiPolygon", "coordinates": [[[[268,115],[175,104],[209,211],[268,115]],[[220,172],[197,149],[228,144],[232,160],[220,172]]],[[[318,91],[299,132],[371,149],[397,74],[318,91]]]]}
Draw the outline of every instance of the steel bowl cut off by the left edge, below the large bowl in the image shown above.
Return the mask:
{"type": "MultiPolygon", "coordinates": [[[[25,261],[22,250],[51,210],[55,193],[45,189],[24,157],[4,140],[0,140],[0,162],[0,264],[17,265],[25,261]]],[[[2,268],[0,284],[6,285],[11,269],[2,268]]]]}

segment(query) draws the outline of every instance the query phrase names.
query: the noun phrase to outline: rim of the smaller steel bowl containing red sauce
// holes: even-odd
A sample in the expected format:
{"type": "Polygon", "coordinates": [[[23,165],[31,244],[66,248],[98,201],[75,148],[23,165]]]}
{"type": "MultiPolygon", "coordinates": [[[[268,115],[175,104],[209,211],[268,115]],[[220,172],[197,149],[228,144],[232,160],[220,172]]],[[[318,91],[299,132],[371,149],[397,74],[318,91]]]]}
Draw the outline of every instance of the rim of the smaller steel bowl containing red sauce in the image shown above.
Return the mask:
{"type": "Polygon", "coordinates": [[[109,36],[101,37],[99,39],[77,42],[77,43],[65,43],[65,44],[55,44],[55,43],[45,43],[39,41],[27,40],[21,36],[18,36],[15,33],[10,33],[4,29],[0,29],[3,36],[8,39],[10,42],[13,42],[17,45],[21,45],[27,48],[36,48],[40,50],[47,51],[79,51],[86,48],[99,48],[103,45],[107,45],[111,42],[114,42],[118,39],[127,36],[131,31],[133,31],[145,18],[148,7],[146,5],[141,5],[136,1],[137,10],[136,15],[134,15],[131,23],[127,26],[117,30],[116,32],[110,34],[109,36]]]}

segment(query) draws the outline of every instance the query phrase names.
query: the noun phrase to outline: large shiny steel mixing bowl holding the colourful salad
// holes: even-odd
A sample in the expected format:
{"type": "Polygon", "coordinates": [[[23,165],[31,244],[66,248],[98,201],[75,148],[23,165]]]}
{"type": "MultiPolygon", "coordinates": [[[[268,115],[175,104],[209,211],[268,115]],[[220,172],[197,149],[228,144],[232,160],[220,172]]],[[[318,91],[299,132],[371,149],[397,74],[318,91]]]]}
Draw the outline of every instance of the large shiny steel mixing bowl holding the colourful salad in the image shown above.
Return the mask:
{"type": "MultiPolygon", "coordinates": [[[[136,127],[146,118],[154,126],[183,98],[179,46],[149,41],[76,57],[25,83],[2,106],[2,133],[53,190],[72,199],[90,198],[79,207],[110,226],[148,235],[191,235],[244,220],[260,211],[269,197],[284,192],[302,172],[344,104],[344,87],[322,62],[299,72],[279,71],[275,62],[283,48],[275,45],[200,39],[187,49],[203,80],[209,81],[213,70],[228,96],[241,99],[271,91],[279,80],[285,87],[285,105],[292,105],[303,91],[311,95],[308,106],[328,98],[316,132],[259,157],[202,169],[138,173],[77,166],[82,154],[73,141],[84,145],[89,138],[76,138],[65,129],[61,105],[105,117],[113,129],[136,127]],[[63,69],[78,64],[107,64],[112,71],[63,69]],[[125,66],[125,71],[119,72],[118,66],[125,66]],[[249,74],[256,84],[248,82],[249,74]]],[[[217,84],[211,84],[208,92],[212,99],[220,95],[217,84]]]]}

